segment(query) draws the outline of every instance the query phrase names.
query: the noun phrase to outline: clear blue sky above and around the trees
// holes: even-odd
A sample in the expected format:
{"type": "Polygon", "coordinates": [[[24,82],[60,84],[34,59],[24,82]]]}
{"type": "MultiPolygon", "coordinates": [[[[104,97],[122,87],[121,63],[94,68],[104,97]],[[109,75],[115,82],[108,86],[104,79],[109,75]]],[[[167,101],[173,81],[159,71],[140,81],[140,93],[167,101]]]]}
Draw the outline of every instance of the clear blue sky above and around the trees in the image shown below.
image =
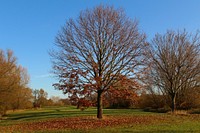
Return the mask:
{"type": "Polygon", "coordinates": [[[167,29],[200,29],[200,0],[0,0],[0,49],[11,49],[18,64],[28,69],[30,87],[43,88],[49,97],[65,97],[54,90],[48,51],[69,18],[81,10],[106,4],[124,8],[139,20],[139,28],[151,40],[167,29]]]}

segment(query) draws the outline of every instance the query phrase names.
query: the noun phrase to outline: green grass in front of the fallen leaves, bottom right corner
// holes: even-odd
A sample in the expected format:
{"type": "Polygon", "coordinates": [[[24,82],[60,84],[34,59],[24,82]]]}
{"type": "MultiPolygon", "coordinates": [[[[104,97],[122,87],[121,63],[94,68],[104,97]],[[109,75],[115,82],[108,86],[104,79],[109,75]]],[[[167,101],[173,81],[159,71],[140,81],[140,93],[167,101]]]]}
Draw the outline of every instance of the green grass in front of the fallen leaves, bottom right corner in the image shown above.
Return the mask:
{"type": "MultiPolygon", "coordinates": [[[[118,128],[107,128],[99,132],[140,132],[140,133],[183,133],[200,132],[200,121],[183,121],[179,119],[171,122],[162,121],[151,125],[131,125],[118,128]]],[[[98,132],[97,132],[98,133],[98,132]]]]}

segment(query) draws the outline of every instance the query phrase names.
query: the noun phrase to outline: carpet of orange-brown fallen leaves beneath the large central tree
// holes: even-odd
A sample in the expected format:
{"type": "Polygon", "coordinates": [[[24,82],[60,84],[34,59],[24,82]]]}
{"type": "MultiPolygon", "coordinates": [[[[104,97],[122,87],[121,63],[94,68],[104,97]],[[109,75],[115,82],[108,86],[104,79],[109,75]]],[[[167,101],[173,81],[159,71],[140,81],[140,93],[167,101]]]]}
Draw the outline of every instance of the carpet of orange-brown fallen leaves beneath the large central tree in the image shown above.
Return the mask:
{"type": "Polygon", "coordinates": [[[106,116],[102,120],[94,116],[59,118],[39,122],[28,122],[17,125],[0,127],[0,131],[6,132],[31,132],[38,130],[63,130],[63,129],[93,129],[113,126],[123,126],[132,124],[150,124],[155,116],[106,116]]]}

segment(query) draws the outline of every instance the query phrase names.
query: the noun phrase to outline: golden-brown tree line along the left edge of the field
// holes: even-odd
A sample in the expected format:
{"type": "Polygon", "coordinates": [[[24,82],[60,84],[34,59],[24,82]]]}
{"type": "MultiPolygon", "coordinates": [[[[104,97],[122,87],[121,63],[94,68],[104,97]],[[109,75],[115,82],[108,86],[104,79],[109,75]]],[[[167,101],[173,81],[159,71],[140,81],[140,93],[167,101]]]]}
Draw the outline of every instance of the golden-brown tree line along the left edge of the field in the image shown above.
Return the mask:
{"type": "Polygon", "coordinates": [[[17,64],[13,52],[0,50],[0,118],[8,110],[62,105],[60,98],[48,99],[47,92],[43,89],[33,90],[28,87],[28,83],[28,72],[17,64]]]}

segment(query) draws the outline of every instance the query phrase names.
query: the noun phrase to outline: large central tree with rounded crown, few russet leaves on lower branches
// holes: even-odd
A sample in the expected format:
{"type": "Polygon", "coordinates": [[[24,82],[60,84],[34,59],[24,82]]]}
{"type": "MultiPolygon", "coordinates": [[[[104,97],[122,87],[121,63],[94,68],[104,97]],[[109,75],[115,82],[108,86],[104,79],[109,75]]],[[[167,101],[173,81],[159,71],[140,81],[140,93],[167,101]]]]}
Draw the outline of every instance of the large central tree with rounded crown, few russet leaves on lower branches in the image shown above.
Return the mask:
{"type": "Polygon", "coordinates": [[[97,118],[102,118],[102,94],[120,80],[139,72],[145,50],[145,35],[137,21],[121,9],[97,6],[69,19],[56,37],[59,50],[52,51],[54,86],[66,93],[96,92],[97,118]]]}

